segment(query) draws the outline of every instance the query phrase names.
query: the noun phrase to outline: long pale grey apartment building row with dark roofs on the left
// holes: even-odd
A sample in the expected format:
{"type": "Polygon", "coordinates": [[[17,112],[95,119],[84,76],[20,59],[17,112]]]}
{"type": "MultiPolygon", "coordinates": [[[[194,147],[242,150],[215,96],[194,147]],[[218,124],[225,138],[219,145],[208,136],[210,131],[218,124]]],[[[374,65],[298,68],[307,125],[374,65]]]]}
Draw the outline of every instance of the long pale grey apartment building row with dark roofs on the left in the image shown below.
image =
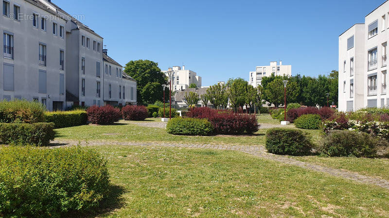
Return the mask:
{"type": "MultiPolygon", "coordinates": [[[[103,37],[51,0],[1,1],[0,100],[34,100],[49,110],[110,103],[105,101],[103,37]]],[[[123,71],[120,64],[115,67],[123,71]]],[[[136,104],[136,81],[123,74],[119,80],[129,88],[117,104],[136,104]]]]}

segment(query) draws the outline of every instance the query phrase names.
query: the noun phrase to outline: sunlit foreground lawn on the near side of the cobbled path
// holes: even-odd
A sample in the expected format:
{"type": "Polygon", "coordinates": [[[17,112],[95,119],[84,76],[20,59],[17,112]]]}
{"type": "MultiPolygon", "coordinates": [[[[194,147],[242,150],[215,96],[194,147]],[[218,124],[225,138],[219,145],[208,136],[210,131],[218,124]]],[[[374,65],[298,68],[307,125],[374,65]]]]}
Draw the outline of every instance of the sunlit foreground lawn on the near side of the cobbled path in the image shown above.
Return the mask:
{"type": "Polygon", "coordinates": [[[102,217],[388,217],[389,191],[231,151],[94,147],[117,198],[102,217]]]}

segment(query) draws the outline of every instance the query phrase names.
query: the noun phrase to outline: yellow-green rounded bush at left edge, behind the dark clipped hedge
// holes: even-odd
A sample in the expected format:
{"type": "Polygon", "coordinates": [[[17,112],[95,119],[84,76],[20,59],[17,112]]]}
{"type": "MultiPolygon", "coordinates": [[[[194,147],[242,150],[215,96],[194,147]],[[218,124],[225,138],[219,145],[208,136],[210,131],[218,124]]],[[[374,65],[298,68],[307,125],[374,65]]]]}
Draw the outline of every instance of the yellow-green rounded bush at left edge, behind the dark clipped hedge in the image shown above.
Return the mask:
{"type": "Polygon", "coordinates": [[[0,123],[44,122],[46,109],[38,102],[27,100],[0,101],[0,123]]]}

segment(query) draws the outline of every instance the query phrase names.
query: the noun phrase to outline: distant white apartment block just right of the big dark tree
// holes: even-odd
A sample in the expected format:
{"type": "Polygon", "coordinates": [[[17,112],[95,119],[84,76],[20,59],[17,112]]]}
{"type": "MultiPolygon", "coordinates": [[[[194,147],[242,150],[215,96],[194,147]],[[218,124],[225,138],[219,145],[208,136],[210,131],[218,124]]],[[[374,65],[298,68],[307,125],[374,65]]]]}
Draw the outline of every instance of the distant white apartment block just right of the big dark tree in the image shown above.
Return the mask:
{"type": "Polygon", "coordinates": [[[167,71],[162,72],[169,77],[169,71],[173,71],[172,91],[186,90],[192,83],[195,83],[197,87],[201,87],[201,77],[197,76],[197,73],[192,70],[185,70],[185,66],[170,67],[167,71]]]}

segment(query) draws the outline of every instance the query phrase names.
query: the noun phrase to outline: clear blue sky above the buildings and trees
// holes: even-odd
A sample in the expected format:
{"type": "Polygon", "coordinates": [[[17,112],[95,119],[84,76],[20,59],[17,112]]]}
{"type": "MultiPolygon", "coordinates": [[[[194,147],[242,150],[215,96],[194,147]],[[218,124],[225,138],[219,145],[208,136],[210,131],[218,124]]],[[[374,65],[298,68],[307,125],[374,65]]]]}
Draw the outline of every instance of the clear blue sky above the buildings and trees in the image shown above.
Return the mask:
{"type": "Polygon", "coordinates": [[[104,37],[124,65],[148,59],[186,65],[202,85],[248,79],[282,60],[292,74],[338,68],[338,36],[384,0],[52,0],[104,37]]]}

